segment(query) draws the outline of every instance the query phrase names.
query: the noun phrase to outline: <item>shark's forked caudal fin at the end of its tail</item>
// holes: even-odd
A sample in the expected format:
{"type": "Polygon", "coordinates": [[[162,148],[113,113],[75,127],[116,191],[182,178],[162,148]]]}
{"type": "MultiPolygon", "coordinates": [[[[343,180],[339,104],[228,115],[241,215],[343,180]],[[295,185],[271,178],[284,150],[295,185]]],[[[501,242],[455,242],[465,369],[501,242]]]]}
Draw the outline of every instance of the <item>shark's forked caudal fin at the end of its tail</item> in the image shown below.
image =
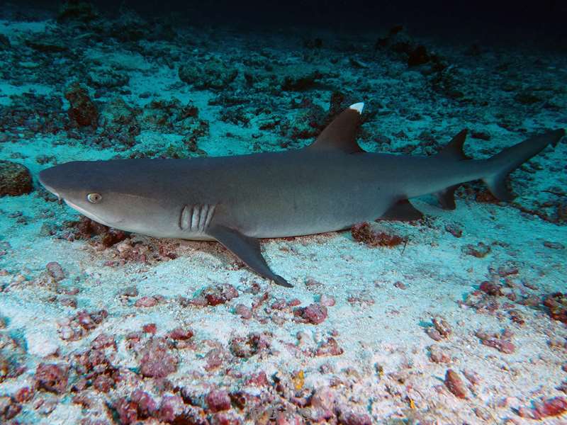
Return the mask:
{"type": "Polygon", "coordinates": [[[512,171],[524,164],[528,159],[539,154],[547,145],[556,146],[565,135],[565,130],[553,130],[542,135],[530,137],[517,145],[507,147],[502,152],[488,159],[493,170],[483,181],[490,192],[498,199],[510,201],[514,195],[506,187],[506,177],[512,171]]]}

